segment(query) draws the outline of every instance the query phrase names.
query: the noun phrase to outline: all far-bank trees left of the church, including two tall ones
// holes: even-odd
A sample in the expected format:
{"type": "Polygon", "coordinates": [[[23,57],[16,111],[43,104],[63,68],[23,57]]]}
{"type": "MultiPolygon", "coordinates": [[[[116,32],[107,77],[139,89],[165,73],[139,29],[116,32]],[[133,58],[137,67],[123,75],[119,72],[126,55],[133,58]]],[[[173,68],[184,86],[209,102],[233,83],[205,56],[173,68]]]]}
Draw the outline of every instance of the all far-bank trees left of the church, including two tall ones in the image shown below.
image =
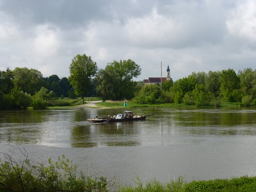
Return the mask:
{"type": "Polygon", "coordinates": [[[120,60],[108,63],[98,70],[89,56],[76,55],[69,66],[70,75],[43,77],[36,69],[26,67],[0,71],[0,109],[45,108],[48,100],[97,95],[103,100],[132,99],[141,68],[134,61],[120,60]],[[93,78],[94,77],[94,78],[93,78]]]}

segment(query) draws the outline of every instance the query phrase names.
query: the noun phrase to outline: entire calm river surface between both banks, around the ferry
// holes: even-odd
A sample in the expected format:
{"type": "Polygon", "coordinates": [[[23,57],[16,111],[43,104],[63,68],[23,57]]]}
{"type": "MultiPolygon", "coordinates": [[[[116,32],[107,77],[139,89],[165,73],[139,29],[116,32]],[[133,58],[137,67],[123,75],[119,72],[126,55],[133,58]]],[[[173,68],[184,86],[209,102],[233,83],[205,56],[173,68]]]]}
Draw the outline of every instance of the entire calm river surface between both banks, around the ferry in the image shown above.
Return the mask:
{"type": "Polygon", "coordinates": [[[24,147],[35,162],[65,154],[84,173],[117,183],[163,183],[256,173],[256,108],[129,109],[144,121],[87,122],[123,109],[0,111],[0,152],[24,147]]]}

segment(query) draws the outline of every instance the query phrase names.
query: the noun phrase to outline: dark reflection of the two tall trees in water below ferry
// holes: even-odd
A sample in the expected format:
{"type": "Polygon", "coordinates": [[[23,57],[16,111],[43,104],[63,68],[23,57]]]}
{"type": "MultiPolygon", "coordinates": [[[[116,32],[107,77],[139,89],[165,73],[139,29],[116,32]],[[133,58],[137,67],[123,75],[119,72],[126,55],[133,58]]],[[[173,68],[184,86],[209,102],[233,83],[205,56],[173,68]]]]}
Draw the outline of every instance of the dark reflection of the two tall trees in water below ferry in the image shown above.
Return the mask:
{"type": "Polygon", "coordinates": [[[136,146],[133,122],[75,125],[71,128],[72,147],[136,146]]]}

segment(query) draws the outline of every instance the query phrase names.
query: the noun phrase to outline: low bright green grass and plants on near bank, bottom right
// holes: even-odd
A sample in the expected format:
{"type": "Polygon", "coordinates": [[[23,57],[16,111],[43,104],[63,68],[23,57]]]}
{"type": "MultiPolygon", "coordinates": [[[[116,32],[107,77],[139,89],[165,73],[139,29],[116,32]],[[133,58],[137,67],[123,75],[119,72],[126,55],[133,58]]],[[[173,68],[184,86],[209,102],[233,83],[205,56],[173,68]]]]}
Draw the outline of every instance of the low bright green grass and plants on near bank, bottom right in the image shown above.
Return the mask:
{"type": "Polygon", "coordinates": [[[184,182],[182,178],[162,184],[158,180],[152,180],[145,185],[138,180],[135,186],[121,186],[118,192],[245,192],[256,191],[256,177],[243,176],[233,179],[215,179],[208,181],[184,182]]]}

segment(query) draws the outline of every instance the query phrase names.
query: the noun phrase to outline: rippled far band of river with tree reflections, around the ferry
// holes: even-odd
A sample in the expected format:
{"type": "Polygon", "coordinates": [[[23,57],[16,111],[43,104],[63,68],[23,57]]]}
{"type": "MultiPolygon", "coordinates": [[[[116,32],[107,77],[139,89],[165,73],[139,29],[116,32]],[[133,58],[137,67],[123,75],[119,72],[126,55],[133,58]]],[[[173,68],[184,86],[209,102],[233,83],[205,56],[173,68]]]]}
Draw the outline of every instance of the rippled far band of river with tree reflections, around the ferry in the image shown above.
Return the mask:
{"type": "MultiPolygon", "coordinates": [[[[172,145],[183,137],[256,135],[256,110],[133,109],[152,114],[144,121],[90,123],[86,119],[120,113],[120,109],[66,108],[1,111],[1,143],[58,147],[172,145]]],[[[187,138],[188,139],[188,138],[187,138]]]]}

